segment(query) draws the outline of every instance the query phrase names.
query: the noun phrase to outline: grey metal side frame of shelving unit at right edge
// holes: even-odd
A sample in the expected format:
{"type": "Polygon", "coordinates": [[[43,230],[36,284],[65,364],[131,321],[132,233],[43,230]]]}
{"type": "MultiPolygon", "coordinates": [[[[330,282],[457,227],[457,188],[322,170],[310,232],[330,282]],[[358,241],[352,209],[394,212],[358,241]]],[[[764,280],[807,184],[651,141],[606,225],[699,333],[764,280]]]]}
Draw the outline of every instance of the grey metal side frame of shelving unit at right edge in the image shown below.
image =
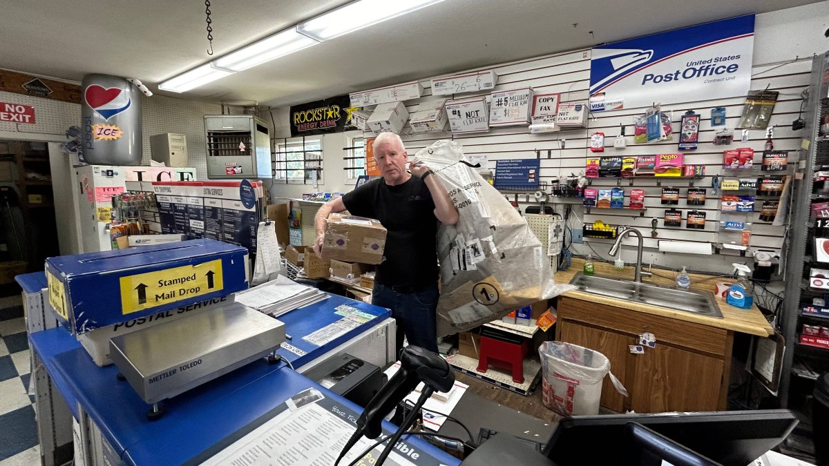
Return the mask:
{"type": "MultiPolygon", "coordinates": [[[[823,80],[824,73],[829,69],[829,52],[816,56],[812,61],[812,75],[809,80],[809,100],[806,108],[806,128],[803,129],[802,148],[797,153],[800,160],[800,172],[802,178],[793,182],[792,203],[790,205],[791,217],[788,231],[788,257],[786,263],[786,290],[783,301],[783,316],[780,322],[783,337],[785,337],[787,351],[783,356],[783,374],[780,377],[778,396],[780,404],[788,407],[790,400],[790,388],[792,377],[803,377],[802,363],[795,364],[797,358],[807,358],[809,355],[802,354],[803,351],[799,341],[798,327],[802,323],[801,309],[802,301],[811,298],[804,298],[804,294],[810,294],[807,287],[802,287],[805,268],[812,266],[812,255],[809,238],[812,237],[812,230],[815,228],[811,222],[812,201],[819,198],[829,200],[829,194],[817,194],[814,190],[812,177],[818,165],[818,154],[827,150],[824,147],[829,141],[820,133],[821,119],[829,112],[829,99],[827,99],[827,88],[829,83],[823,80]]],[[[818,350],[820,351],[820,350],[818,350]]],[[[811,378],[811,377],[804,377],[811,378]]]]}

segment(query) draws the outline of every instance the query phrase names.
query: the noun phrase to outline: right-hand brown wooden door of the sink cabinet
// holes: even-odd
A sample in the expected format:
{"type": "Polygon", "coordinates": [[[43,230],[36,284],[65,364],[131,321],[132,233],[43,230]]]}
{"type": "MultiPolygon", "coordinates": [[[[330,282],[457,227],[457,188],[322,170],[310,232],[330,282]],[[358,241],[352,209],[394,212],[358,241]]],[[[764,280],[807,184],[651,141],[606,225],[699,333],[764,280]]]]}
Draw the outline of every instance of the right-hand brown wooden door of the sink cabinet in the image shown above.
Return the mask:
{"type": "Polygon", "coordinates": [[[720,359],[659,345],[632,354],[628,377],[631,409],[638,413],[717,410],[724,363],[720,359]]]}

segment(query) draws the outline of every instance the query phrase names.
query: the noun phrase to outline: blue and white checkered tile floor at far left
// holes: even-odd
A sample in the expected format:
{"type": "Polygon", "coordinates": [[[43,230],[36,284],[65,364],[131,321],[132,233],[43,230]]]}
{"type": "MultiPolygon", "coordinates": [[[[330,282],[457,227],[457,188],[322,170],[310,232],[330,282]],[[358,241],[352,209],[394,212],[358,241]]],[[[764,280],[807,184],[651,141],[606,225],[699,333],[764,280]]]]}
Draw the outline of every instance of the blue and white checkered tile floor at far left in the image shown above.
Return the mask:
{"type": "Polygon", "coordinates": [[[40,464],[20,297],[0,299],[0,466],[40,464]],[[15,305],[16,304],[16,305],[15,305]]]}

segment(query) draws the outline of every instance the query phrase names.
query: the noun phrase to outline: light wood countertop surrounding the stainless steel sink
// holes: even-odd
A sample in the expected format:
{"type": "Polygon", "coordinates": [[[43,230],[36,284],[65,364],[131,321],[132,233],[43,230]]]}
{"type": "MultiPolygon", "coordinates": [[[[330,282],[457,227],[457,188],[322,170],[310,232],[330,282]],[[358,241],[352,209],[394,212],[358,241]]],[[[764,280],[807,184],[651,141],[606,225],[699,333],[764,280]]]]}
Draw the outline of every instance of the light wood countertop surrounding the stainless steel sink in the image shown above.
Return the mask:
{"type": "MultiPolygon", "coordinates": [[[[573,265],[567,270],[558,270],[555,272],[556,283],[570,283],[575,274],[583,269],[584,260],[573,259],[573,265]]],[[[619,279],[633,279],[633,267],[625,266],[621,271],[613,269],[613,265],[604,262],[594,262],[594,270],[596,274],[615,277],[619,279]]],[[[652,284],[674,284],[675,273],[669,270],[653,269],[653,277],[642,277],[643,283],[652,284]],[[658,274],[658,275],[656,275],[658,274]]],[[[691,289],[700,289],[714,293],[715,283],[717,281],[733,281],[725,277],[715,277],[710,275],[690,274],[691,275],[691,289]]],[[[758,335],[760,337],[768,337],[773,335],[774,329],[768,323],[763,313],[760,312],[756,305],[750,309],[735,308],[723,299],[715,299],[720,306],[720,313],[723,318],[712,318],[694,313],[686,313],[684,311],[676,311],[674,309],[662,308],[659,306],[652,306],[650,304],[633,303],[624,299],[613,299],[596,294],[584,293],[581,291],[570,291],[562,296],[573,299],[582,299],[593,303],[603,303],[608,306],[617,308],[630,309],[641,313],[649,313],[659,315],[667,318],[676,318],[686,322],[700,323],[714,328],[723,328],[725,330],[732,330],[739,333],[749,333],[751,335],[758,335]]]]}

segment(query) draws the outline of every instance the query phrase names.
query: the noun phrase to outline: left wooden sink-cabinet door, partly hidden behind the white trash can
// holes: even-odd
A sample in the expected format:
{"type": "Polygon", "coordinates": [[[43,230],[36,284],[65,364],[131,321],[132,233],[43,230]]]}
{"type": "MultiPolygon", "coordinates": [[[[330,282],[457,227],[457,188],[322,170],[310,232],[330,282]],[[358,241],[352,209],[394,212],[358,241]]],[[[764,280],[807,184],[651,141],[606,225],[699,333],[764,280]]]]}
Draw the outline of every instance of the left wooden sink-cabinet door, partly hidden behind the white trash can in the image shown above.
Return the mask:
{"type": "MultiPolygon", "coordinates": [[[[579,347],[598,351],[610,360],[610,370],[622,383],[625,381],[628,345],[633,344],[633,338],[618,333],[610,333],[598,328],[585,327],[577,323],[560,322],[561,333],[558,339],[562,342],[573,343],[579,347]]],[[[629,389],[628,389],[629,390],[629,389]]],[[[610,376],[604,377],[602,382],[602,400],[600,403],[609,410],[624,412],[624,397],[616,391],[610,376]]]]}

